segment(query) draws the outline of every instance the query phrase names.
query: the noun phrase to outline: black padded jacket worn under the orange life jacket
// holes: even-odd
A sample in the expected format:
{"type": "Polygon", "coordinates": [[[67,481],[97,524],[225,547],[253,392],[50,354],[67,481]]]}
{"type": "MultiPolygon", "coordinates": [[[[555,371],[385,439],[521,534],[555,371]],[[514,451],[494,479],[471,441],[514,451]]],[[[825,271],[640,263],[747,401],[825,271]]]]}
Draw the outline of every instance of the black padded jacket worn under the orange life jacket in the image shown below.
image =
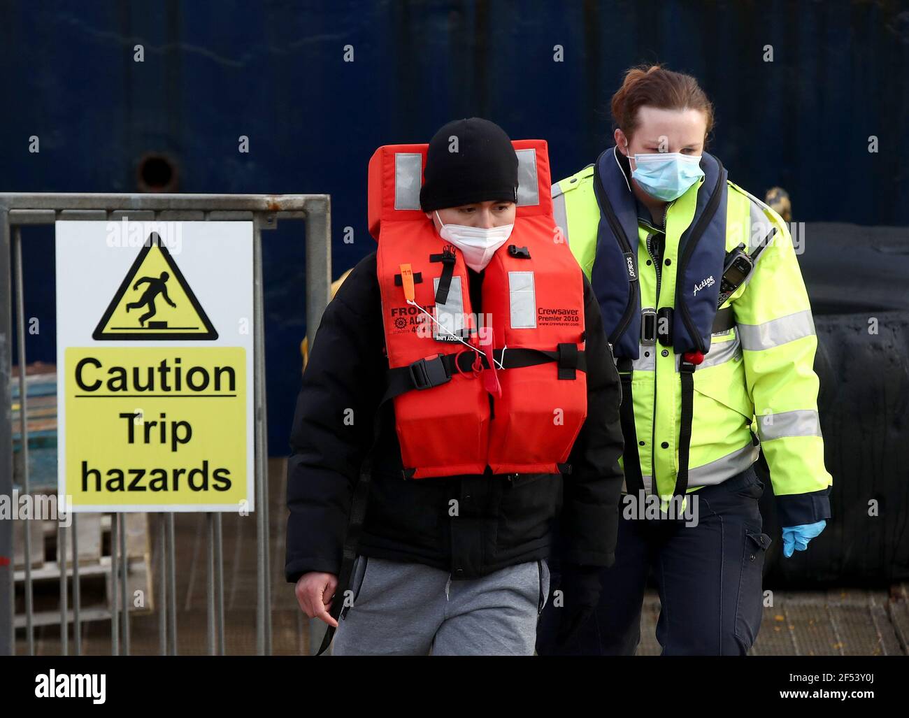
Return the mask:
{"type": "MultiPolygon", "coordinates": [[[[483,274],[468,273],[479,313],[483,274]]],[[[547,558],[561,509],[563,560],[614,562],[622,488],[621,389],[585,278],[584,310],[588,409],[568,460],[571,473],[405,480],[394,407],[386,402],[358,553],[475,578],[547,558]],[[452,499],[459,504],[455,517],[449,516],[452,499]]],[[[325,310],[297,399],[287,464],[289,582],[310,571],[340,569],[355,482],[385,392],[384,347],[374,252],[355,266],[325,310]]]]}

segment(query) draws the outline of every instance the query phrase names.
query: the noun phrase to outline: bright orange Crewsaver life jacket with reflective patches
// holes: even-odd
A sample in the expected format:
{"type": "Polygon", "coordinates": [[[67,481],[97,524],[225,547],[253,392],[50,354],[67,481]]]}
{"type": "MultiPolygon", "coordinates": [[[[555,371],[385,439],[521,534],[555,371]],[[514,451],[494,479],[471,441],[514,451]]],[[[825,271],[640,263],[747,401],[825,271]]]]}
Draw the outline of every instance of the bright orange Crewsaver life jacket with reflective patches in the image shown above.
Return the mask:
{"type": "Polygon", "coordinates": [[[461,252],[420,210],[426,145],[379,147],[369,163],[386,398],[410,478],[565,471],[587,414],[581,268],[553,218],[546,143],[513,144],[514,229],[484,270],[477,317],[461,252]]]}

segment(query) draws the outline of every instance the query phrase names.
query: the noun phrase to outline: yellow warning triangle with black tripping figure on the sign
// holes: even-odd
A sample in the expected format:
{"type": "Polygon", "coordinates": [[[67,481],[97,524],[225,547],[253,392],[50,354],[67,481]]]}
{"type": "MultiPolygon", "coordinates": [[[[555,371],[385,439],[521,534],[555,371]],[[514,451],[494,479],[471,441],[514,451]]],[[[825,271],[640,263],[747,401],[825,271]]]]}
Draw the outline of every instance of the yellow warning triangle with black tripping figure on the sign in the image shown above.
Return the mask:
{"type": "Polygon", "coordinates": [[[153,232],[95,327],[93,339],[217,339],[174,257],[153,232]]]}

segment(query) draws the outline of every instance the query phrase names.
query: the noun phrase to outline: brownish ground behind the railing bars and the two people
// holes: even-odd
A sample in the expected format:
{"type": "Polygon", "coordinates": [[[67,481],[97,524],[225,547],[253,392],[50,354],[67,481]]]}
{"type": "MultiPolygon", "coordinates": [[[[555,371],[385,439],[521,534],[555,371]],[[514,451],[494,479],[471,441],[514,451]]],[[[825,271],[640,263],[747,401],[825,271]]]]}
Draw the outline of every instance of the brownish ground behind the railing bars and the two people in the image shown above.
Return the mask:
{"type": "MultiPolygon", "coordinates": [[[[284,580],[285,460],[268,462],[270,475],[273,653],[309,653],[309,621],[296,604],[293,586],[284,580]]],[[[225,652],[255,653],[255,517],[225,514],[225,652]]],[[[153,523],[154,525],[154,523],[153,523]]],[[[177,632],[181,654],[206,653],[206,551],[204,514],[176,514],[177,632]]],[[[154,530],[153,530],[154,535],[154,530]]],[[[157,572],[157,552],[153,552],[157,572]]],[[[764,588],[773,588],[764,586],[764,588]]],[[[155,593],[157,593],[155,589],[155,593]]],[[[659,599],[649,593],[644,605],[639,653],[659,653],[654,627],[659,599]]],[[[70,652],[73,652],[70,628],[70,652]]],[[[158,653],[158,618],[154,611],[134,613],[130,624],[133,654],[158,653]]],[[[17,633],[16,653],[26,653],[25,632],[17,633]]],[[[35,653],[60,652],[58,626],[35,628],[35,653]]],[[[109,654],[109,621],[84,623],[82,652],[109,654]]],[[[774,606],[764,608],[756,655],[903,655],[909,653],[909,583],[891,591],[844,588],[828,591],[774,592],[774,606]]]]}

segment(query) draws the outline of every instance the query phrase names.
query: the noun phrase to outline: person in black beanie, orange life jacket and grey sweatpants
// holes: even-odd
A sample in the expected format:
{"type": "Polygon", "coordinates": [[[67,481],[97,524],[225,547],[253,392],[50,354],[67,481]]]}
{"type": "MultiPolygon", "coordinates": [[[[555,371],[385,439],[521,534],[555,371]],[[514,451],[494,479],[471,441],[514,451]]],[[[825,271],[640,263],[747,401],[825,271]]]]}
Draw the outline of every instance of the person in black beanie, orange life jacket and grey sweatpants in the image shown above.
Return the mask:
{"type": "Polygon", "coordinates": [[[325,310],[287,469],[285,575],[322,650],[336,628],[335,654],[532,654],[557,519],[564,632],[594,610],[620,386],[549,182],[543,141],[479,118],[370,161],[378,249],[325,310]]]}

